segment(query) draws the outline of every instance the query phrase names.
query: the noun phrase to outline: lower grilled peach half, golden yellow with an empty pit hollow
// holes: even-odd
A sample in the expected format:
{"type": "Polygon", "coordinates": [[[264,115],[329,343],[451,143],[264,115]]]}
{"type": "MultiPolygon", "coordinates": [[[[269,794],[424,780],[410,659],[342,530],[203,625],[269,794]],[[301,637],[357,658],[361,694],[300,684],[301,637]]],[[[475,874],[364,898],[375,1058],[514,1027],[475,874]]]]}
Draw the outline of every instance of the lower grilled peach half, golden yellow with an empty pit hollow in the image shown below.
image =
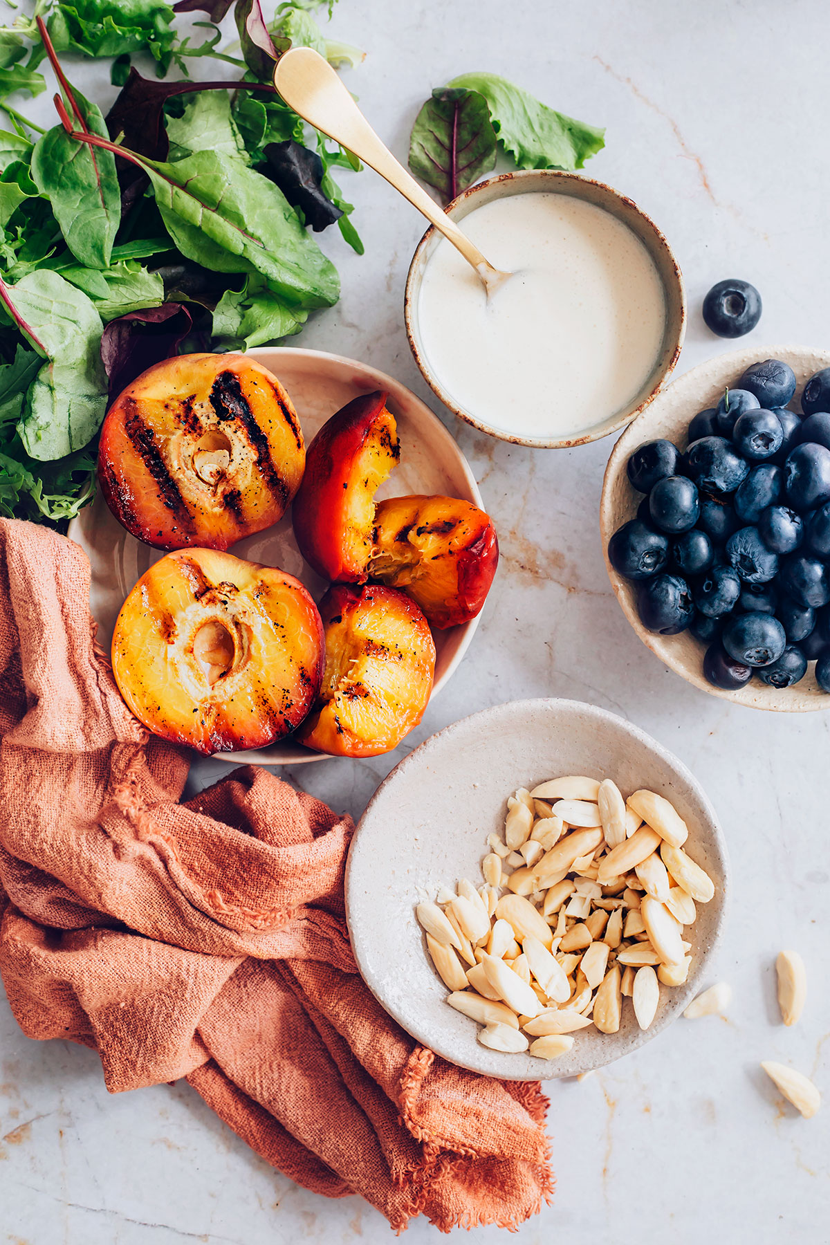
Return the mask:
{"type": "Polygon", "coordinates": [[[289,735],[320,688],[320,614],[275,566],[182,549],[146,571],[112,637],[112,670],[136,717],[199,752],[289,735]]]}

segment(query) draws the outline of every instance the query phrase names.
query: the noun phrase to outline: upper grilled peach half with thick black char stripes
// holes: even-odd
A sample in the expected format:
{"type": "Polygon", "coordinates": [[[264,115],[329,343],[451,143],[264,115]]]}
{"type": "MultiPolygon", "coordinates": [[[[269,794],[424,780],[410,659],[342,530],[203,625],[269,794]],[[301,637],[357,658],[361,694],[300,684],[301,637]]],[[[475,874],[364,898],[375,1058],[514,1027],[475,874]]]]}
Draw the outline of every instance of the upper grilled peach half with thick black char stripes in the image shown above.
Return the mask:
{"type": "Polygon", "coordinates": [[[158,549],[226,549],[276,523],[305,443],[276,376],[244,355],[179,355],[110,407],[98,479],[114,517],[158,549]]]}

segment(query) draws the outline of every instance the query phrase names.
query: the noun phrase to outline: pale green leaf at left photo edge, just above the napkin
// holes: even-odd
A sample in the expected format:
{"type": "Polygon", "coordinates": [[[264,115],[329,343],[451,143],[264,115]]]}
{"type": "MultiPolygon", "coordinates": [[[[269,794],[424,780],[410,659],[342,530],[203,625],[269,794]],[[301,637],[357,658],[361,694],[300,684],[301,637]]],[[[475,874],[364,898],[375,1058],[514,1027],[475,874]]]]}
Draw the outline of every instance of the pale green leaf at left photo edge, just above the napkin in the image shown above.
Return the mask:
{"type": "Polygon", "coordinates": [[[32,458],[62,458],[86,446],[103,420],[101,316],[86,294],[47,268],[16,285],[0,280],[0,299],[46,359],[26,393],[17,432],[32,458]]]}

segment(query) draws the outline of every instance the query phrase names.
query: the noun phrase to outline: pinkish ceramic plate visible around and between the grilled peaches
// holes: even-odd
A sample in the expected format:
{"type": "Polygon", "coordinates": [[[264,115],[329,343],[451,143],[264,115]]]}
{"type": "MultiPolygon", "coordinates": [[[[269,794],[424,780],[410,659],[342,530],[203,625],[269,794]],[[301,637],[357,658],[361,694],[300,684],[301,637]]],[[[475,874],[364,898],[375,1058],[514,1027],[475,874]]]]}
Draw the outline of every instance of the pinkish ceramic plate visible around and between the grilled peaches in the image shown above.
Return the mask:
{"type": "MultiPolygon", "coordinates": [[[[346,402],[372,390],[387,390],[388,406],[398,426],[401,463],[378,489],[378,499],[407,493],[444,493],[482,505],[482,494],[463,453],[429,407],[398,381],[366,364],[319,350],[263,346],[249,355],[279,376],[300,416],[306,446],[320,427],[346,402]]],[[[112,515],[101,494],[70,523],[68,534],[81,545],[92,566],[90,608],[98,624],[98,640],[106,650],[124,598],[147,568],[163,557],[159,549],[129,535],[112,515]]],[[[231,553],[251,561],[280,566],[301,579],[315,600],[326,590],[304,561],[291,529],[290,512],[273,528],[248,537],[231,553]]],[[[464,656],[478,618],[463,626],[433,631],[436,640],[434,696],[464,656]]],[[[291,740],[253,752],[220,752],[217,759],[231,764],[301,764],[324,761],[325,754],[304,748],[291,740]]]]}

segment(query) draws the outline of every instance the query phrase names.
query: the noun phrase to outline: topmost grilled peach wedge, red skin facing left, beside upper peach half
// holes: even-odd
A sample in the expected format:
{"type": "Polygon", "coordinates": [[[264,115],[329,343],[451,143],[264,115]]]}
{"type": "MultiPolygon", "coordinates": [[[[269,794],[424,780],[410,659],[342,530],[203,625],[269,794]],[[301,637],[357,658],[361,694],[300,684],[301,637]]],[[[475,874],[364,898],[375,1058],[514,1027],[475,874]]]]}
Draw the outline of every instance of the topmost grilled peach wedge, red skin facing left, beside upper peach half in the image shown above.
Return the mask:
{"type": "Polygon", "coordinates": [[[373,497],[398,457],[386,393],[363,393],[324,423],[309,446],[291,512],[300,553],[319,575],[363,583],[372,552],[373,497]]]}

